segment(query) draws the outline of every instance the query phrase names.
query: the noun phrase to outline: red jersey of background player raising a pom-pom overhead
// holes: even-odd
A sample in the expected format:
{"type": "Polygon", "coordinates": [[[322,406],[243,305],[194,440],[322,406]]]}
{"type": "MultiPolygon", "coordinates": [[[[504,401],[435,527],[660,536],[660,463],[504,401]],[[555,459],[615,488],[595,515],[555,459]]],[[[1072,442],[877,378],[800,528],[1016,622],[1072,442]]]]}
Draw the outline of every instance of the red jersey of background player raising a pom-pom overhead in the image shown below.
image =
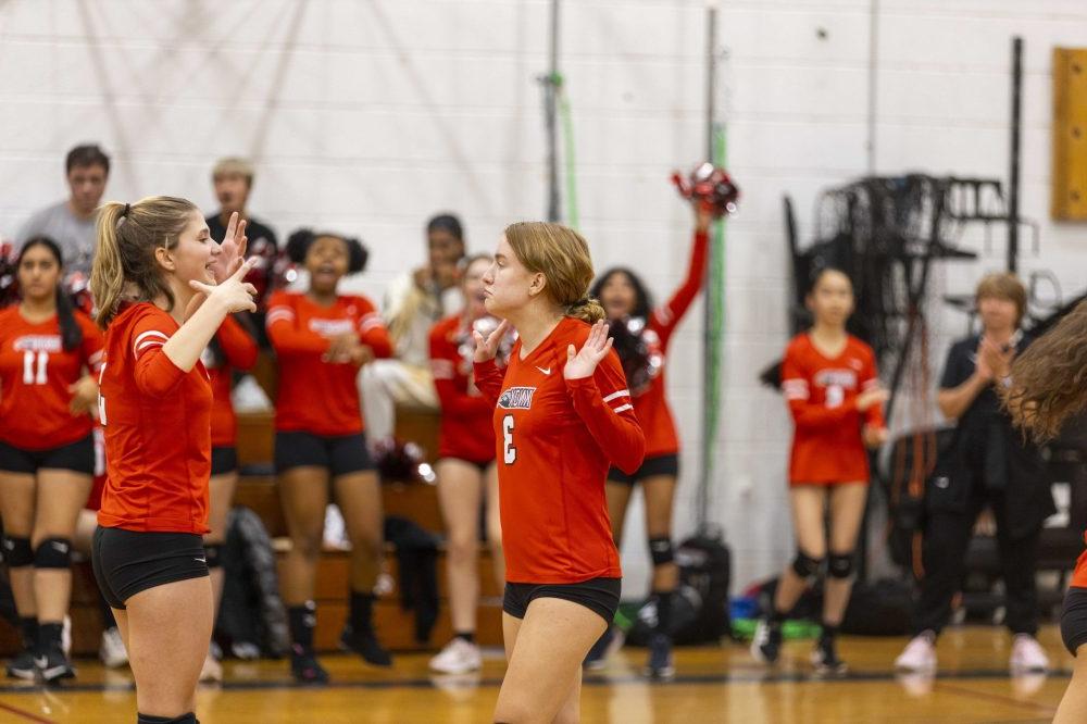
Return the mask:
{"type": "MultiPolygon", "coordinates": [[[[642,333],[650,347],[655,347],[655,351],[662,359],[667,354],[672,333],[675,332],[676,326],[702,288],[709,244],[710,237],[707,234],[695,234],[687,278],[666,304],[653,310],[646,330],[642,333]]],[[[664,367],[661,366],[660,372],[650,380],[648,387],[641,391],[635,391],[634,412],[638,415],[638,422],[641,423],[641,428],[646,432],[646,458],[672,455],[679,451],[679,438],[676,435],[676,425],[672,419],[672,410],[669,408],[664,390],[664,367]]]]}

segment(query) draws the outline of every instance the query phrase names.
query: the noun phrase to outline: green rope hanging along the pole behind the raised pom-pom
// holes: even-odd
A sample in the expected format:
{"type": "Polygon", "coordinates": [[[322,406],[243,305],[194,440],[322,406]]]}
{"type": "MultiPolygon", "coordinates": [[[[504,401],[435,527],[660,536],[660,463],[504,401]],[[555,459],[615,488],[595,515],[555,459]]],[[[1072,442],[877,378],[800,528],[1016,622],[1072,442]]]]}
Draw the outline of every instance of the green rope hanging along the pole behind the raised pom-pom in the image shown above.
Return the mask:
{"type": "MultiPolygon", "coordinates": [[[[713,164],[724,167],[727,160],[727,135],[724,124],[715,124],[713,129],[713,164]]],[[[710,366],[710,389],[707,390],[705,438],[702,445],[709,447],[705,454],[707,480],[713,472],[712,451],[716,447],[717,428],[721,422],[721,379],[723,369],[723,350],[725,333],[725,220],[713,224],[713,235],[710,247],[710,286],[705,290],[705,303],[710,304],[710,349],[707,350],[710,366]]]]}

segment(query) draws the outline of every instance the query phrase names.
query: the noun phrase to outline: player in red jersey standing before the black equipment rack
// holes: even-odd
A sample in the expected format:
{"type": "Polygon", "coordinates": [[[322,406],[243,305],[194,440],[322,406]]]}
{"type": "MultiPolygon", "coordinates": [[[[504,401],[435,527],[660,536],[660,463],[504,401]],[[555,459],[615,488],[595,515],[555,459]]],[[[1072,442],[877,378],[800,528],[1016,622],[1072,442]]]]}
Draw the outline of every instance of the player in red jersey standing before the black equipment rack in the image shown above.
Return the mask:
{"type": "Polygon", "coordinates": [[[879,387],[872,349],[846,332],[853,312],[849,277],[822,270],[808,295],[808,308],[815,324],[792,339],[782,363],[782,389],[796,424],[789,499],[797,557],[779,578],[773,611],[759,623],[751,653],[760,661],[777,660],[782,623],[825,558],[823,632],[812,663],[821,673],[841,673],[846,664],[838,658],[836,638],[849,602],[854,547],[867,498],[865,447],[878,447],[887,439],[882,411],[887,392],[879,387]],[[824,530],[827,507],[829,541],[824,530]]]}

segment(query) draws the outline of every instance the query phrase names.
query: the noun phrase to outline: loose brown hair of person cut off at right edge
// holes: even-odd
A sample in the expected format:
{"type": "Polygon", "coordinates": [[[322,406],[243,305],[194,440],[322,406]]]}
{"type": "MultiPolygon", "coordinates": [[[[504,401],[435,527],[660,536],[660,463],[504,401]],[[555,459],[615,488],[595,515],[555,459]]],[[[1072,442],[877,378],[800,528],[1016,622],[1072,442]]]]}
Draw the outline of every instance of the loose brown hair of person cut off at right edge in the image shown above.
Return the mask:
{"type": "Polygon", "coordinates": [[[1039,442],[1087,408],[1087,301],[1026,348],[1001,394],[1015,423],[1039,442]]]}

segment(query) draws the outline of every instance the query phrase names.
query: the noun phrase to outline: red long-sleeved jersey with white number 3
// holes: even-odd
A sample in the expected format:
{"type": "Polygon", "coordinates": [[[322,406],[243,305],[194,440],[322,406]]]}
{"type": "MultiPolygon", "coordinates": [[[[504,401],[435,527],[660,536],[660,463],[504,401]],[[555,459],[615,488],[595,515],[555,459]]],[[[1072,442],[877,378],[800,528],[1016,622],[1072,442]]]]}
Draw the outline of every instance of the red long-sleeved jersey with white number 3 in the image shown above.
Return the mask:
{"type": "Polygon", "coordinates": [[[589,325],[563,319],[524,359],[521,340],[510,365],[475,365],[476,385],[495,404],[499,509],[505,579],[579,583],[617,578],[604,498],[610,465],[633,473],[646,439],[634,414],[619,355],[592,377],[562,376],[566,347],[580,349],[589,325]]]}

